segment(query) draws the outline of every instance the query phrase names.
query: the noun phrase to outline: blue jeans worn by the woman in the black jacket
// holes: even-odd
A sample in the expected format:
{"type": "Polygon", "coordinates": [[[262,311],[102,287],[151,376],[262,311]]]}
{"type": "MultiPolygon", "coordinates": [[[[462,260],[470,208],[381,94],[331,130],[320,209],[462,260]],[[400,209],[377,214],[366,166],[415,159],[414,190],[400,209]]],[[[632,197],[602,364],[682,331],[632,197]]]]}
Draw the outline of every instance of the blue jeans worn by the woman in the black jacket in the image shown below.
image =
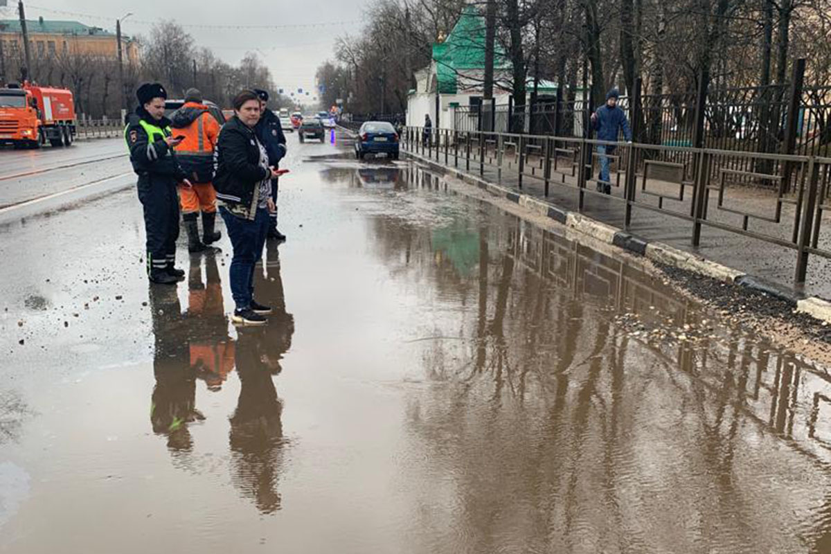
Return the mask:
{"type": "Polygon", "coordinates": [[[237,310],[248,310],[254,296],[254,267],[263,257],[263,246],[268,234],[268,210],[257,208],[253,220],[238,218],[222,206],[219,207],[219,213],[222,214],[234,247],[229,270],[231,294],[237,310]]]}

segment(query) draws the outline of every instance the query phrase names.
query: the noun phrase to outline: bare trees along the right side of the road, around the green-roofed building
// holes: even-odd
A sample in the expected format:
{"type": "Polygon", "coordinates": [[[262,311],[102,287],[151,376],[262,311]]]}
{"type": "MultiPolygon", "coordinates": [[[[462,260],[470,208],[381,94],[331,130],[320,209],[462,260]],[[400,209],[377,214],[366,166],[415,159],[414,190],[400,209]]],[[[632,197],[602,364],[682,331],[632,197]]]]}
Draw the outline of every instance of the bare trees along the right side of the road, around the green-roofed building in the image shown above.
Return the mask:
{"type": "MultiPolygon", "coordinates": [[[[352,111],[406,109],[413,72],[450,32],[464,0],[376,0],[360,35],[337,41],[318,79],[352,93],[352,111]]],[[[550,79],[602,102],[618,86],[645,93],[696,91],[701,71],[718,88],[785,83],[794,58],[807,81],[831,77],[831,0],[481,0],[510,66],[500,83],[524,103],[528,83],[550,79]]],[[[533,85],[531,86],[533,89],[533,85]]],[[[327,89],[328,90],[328,89],[327,89]]]]}

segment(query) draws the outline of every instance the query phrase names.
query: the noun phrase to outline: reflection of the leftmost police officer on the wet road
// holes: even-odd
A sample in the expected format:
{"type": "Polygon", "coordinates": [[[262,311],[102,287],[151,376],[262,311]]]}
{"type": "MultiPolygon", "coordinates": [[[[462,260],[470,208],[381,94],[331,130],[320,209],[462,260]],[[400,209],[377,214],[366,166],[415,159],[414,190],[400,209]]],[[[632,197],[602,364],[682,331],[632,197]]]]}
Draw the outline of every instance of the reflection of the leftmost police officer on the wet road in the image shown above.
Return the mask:
{"type": "Polygon", "coordinates": [[[155,387],[150,404],[150,423],[155,434],[167,436],[171,453],[193,448],[188,424],[204,419],[195,406],[195,374],[188,363],[187,327],[175,288],[150,287],[153,316],[155,387]]]}

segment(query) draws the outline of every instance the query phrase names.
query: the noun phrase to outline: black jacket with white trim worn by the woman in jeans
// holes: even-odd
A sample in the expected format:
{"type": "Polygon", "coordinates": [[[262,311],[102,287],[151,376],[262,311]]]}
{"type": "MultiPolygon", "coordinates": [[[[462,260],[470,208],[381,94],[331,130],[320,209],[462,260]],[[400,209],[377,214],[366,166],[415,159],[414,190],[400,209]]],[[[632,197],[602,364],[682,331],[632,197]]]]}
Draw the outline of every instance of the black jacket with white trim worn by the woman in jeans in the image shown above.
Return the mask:
{"type": "Polygon", "coordinates": [[[259,160],[257,136],[234,115],[219,131],[214,150],[216,197],[234,215],[253,219],[257,213],[259,184],[270,176],[259,160]]]}

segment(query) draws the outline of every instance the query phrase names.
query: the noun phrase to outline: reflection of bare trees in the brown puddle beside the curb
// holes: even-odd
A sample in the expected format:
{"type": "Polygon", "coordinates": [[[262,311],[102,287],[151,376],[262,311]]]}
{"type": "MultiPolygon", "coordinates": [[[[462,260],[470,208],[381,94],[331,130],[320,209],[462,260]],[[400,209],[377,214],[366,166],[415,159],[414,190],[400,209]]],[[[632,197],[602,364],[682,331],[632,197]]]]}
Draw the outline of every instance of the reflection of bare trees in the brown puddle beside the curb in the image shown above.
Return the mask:
{"type": "MultiPolygon", "coordinates": [[[[698,308],[631,267],[521,223],[483,231],[478,250],[475,310],[422,343],[425,375],[447,384],[413,393],[413,449],[431,468],[451,468],[455,501],[452,515],[417,511],[419,524],[472,537],[470,552],[770,546],[776,514],[799,499],[735,479],[755,444],[750,412],[765,404],[750,406],[747,394],[751,365],[769,370],[767,346],[735,332],[695,348],[633,341],[616,311],[642,310],[645,321],[661,312],[683,326],[701,318],[698,308]],[[760,498],[775,501],[765,517],[760,498]]],[[[798,377],[788,362],[774,366],[774,409],[760,424],[790,434],[789,384],[798,377]]],[[[827,540],[828,519],[809,534],[827,540]]]]}

